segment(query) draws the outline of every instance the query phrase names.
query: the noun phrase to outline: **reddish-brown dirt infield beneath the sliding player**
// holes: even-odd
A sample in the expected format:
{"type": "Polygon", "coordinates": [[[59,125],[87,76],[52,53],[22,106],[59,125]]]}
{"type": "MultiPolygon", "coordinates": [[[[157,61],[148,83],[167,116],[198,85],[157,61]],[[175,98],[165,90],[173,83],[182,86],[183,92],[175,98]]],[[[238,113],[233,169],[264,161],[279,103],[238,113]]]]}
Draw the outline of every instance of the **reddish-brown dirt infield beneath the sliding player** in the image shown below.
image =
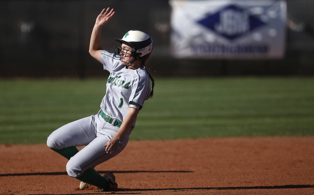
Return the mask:
{"type": "Polygon", "coordinates": [[[130,141],[96,166],[119,188],[79,190],[46,145],[0,145],[0,194],[314,194],[314,137],[130,141]]]}

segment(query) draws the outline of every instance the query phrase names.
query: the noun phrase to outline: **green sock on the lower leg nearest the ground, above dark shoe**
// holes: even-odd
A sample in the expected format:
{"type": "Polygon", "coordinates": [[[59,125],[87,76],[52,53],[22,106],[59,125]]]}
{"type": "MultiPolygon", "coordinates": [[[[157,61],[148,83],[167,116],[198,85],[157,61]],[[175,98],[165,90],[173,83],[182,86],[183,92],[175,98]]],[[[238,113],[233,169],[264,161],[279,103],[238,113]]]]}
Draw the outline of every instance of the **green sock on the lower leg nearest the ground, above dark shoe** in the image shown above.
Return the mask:
{"type": "Polygon", "coordinates": [[[102,177],[95,169],[87,169],[81,176],[77,177],[78,180],[89,183],[90,185],[99,187],[100,189],[109,188],[109,183],[102,177]]]}

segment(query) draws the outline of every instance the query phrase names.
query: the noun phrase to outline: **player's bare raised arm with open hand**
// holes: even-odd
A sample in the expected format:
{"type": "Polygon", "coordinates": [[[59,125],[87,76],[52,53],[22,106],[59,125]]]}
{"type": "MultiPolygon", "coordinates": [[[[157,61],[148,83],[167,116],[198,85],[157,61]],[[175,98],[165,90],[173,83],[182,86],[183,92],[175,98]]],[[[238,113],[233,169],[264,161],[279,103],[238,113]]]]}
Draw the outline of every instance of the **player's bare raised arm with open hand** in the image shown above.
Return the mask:
{"type": "Polygon", "coordinates": [[[107,24],[110,18],[112,18],[112,16],[115,14],[113,9],[111,9],[110,12],[108,13],[109,9],[110,8],[103,9],[101,13],[97,16],[92,35],[90,37],[89,54],[99,62],[101,62],[100,54],[103,50],[100,45],[101,28],[105,24],[107,24]]]}

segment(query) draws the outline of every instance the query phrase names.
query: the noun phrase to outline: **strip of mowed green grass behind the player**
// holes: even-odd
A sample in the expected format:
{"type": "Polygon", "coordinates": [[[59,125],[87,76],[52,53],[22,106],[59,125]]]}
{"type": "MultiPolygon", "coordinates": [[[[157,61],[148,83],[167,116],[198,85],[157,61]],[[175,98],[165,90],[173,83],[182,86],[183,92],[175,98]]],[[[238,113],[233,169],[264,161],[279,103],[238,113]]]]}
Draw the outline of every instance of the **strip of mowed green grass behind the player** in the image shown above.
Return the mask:
{"type": "MultiPolygon", "coordinates": [[[[313,136],[314,78],[156,78],[133,140],[313,136]]],[[[106,78],[0,80],[0,143],[45,143],[60,126],[95,114],[106,78]]]]}

